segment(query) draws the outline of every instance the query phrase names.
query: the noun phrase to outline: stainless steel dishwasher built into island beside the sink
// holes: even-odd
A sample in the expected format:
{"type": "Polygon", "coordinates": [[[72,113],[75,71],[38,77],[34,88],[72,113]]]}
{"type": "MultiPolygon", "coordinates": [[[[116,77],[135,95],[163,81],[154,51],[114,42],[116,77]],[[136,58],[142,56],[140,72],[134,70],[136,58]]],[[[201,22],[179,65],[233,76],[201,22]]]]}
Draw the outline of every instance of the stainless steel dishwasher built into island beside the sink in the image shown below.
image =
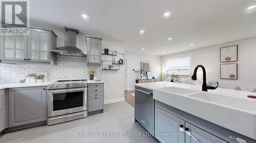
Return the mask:
{"type": "Polygon", "coordinates": [[[135,122],[155,136],[155,100],[153,91],[135,86],[135,122]]]}

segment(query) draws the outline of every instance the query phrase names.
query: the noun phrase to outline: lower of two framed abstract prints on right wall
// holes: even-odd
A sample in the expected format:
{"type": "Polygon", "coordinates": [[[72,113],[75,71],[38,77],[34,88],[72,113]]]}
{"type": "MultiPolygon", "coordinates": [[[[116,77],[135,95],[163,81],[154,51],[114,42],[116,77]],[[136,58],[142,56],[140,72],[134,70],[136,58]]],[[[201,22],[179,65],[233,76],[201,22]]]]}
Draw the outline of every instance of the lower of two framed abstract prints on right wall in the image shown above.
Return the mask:
{"type": "Polygon", "coordinates": [[[220,64],[221,79],[238,79],[238,64],[220,64]]]}

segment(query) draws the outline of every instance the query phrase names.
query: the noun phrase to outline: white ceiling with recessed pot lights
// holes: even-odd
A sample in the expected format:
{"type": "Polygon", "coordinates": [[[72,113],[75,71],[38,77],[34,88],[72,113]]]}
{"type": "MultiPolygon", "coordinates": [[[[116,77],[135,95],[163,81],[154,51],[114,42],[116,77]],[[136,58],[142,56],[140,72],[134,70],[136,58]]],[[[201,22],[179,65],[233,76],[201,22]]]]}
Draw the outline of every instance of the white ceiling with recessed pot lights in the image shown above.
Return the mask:
{"type": "Polygon", "coordinates": [[[30,5],[31,23],[109,36],[124,41],[129,52],[164,55],[256,36],[256,9],[247,10],[255,0],[31,0],[30,5]],[[169,18],[166,11],[172,12],[169,18]]]}

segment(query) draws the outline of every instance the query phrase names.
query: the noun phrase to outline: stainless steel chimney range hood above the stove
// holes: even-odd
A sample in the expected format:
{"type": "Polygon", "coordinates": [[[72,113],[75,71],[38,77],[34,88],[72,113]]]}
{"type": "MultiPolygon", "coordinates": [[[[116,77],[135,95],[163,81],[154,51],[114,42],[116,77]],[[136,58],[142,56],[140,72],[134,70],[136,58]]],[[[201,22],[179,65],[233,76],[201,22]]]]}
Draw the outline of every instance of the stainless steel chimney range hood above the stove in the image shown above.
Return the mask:
{"type": "Polygon", "coordinates": [[[60,55],[86,56],[86,52],[76,47],[76,36],[79,34],[79,31],[73,28],[64,28],[67,32],[65,46],[51,49],[51,51],[60,55]]]}

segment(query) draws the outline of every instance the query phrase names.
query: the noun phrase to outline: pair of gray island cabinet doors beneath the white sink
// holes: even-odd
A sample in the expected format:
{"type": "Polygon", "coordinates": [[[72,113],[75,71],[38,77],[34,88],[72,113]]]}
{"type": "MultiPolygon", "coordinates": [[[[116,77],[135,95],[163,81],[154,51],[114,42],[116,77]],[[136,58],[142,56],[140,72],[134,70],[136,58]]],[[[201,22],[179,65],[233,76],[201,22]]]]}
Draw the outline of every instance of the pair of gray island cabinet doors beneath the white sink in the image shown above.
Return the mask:
{"type": "Polygon", "coordinates": [[[155,137],[162,143],[227,143],[158,107],[155,107],[155,137]]]}

